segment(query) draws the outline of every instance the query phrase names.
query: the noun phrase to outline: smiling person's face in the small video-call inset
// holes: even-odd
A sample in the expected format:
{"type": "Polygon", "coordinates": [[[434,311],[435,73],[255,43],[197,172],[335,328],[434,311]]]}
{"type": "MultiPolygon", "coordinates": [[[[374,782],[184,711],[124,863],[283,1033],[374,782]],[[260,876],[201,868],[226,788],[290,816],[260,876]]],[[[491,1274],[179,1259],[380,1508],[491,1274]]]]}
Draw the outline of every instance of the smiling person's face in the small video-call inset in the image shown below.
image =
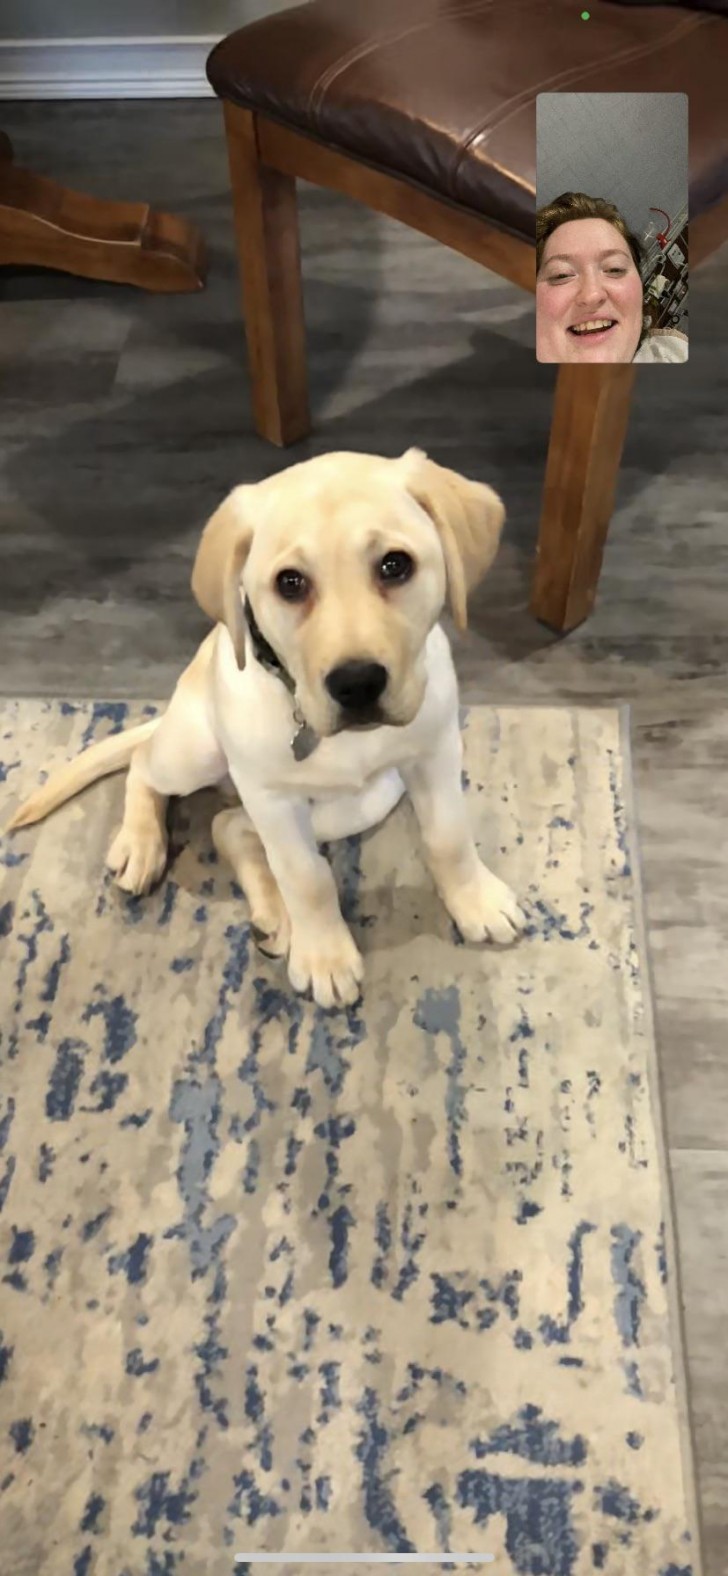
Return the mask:
{"type": "Polygon", "coordinates": [[[537,361],[632,361],[643,287],[607,219],[569,219],[548,236],[536,279],[537,361]]]}

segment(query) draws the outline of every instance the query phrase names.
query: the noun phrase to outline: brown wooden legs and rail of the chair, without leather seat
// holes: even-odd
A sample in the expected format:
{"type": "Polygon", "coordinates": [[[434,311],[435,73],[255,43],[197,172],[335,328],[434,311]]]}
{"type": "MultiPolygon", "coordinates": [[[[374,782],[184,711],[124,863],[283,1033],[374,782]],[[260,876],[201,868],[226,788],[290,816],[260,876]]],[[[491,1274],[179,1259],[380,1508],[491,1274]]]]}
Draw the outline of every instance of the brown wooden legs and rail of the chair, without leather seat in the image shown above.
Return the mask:
{"type": "MultiPolygon", "coordinates": [[[[287,446],[310,432],[296,181],[342,192],[536,292],[536,251],[487,219],[303,132],[224,101],[243,315],[257,432],[287,446]]],[[[690,222],[690,266],[728,240],[728,200],[690,222]]],[[[632,366],[556,372],[529,608],[558,634],[594,605],[615,506],[632,366]]]]}

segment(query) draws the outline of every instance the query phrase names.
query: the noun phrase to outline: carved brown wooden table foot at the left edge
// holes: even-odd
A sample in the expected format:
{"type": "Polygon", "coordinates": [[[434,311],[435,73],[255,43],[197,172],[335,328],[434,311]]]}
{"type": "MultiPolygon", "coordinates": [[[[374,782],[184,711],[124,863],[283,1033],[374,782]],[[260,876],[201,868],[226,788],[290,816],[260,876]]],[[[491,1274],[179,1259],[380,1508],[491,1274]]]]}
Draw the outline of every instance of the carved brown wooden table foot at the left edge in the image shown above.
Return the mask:
{"type": "Polygon", "coordinates": [[[0,131],[0,265],[57,268],[140,290],[202,290],[206,257],[188,219],[68,191],[13,164],[0,131]]]}

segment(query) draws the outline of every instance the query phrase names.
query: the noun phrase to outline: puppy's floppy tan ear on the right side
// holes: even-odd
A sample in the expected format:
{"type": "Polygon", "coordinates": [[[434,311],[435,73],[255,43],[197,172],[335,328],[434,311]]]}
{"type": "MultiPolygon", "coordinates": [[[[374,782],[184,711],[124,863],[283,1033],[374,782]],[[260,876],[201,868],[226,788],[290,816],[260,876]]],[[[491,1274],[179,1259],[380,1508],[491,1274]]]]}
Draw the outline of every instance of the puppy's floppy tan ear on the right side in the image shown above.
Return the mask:
{"type": "Polygon", "coordinates": [[[407,492],[427,511],[443,545],[448,597],[459,629],[468,627],[468,593],[484,578],[498,552],[506,509],[485,482],[471,482],[408,449],[394,462],[407,492]]]}

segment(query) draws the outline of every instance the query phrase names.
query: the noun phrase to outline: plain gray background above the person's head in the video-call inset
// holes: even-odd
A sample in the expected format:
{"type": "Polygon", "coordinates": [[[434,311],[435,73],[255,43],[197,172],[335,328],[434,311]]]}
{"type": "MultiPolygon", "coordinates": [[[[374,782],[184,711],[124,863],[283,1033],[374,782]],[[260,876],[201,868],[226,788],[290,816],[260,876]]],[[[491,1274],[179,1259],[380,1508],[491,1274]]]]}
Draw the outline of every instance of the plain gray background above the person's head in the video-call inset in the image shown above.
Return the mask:
{"type": "Polygon", "coordinates": [[[687,95],[539,93],[536,203],[564,191],[615,202],[644,235],[687,208],[687,95]]]}

